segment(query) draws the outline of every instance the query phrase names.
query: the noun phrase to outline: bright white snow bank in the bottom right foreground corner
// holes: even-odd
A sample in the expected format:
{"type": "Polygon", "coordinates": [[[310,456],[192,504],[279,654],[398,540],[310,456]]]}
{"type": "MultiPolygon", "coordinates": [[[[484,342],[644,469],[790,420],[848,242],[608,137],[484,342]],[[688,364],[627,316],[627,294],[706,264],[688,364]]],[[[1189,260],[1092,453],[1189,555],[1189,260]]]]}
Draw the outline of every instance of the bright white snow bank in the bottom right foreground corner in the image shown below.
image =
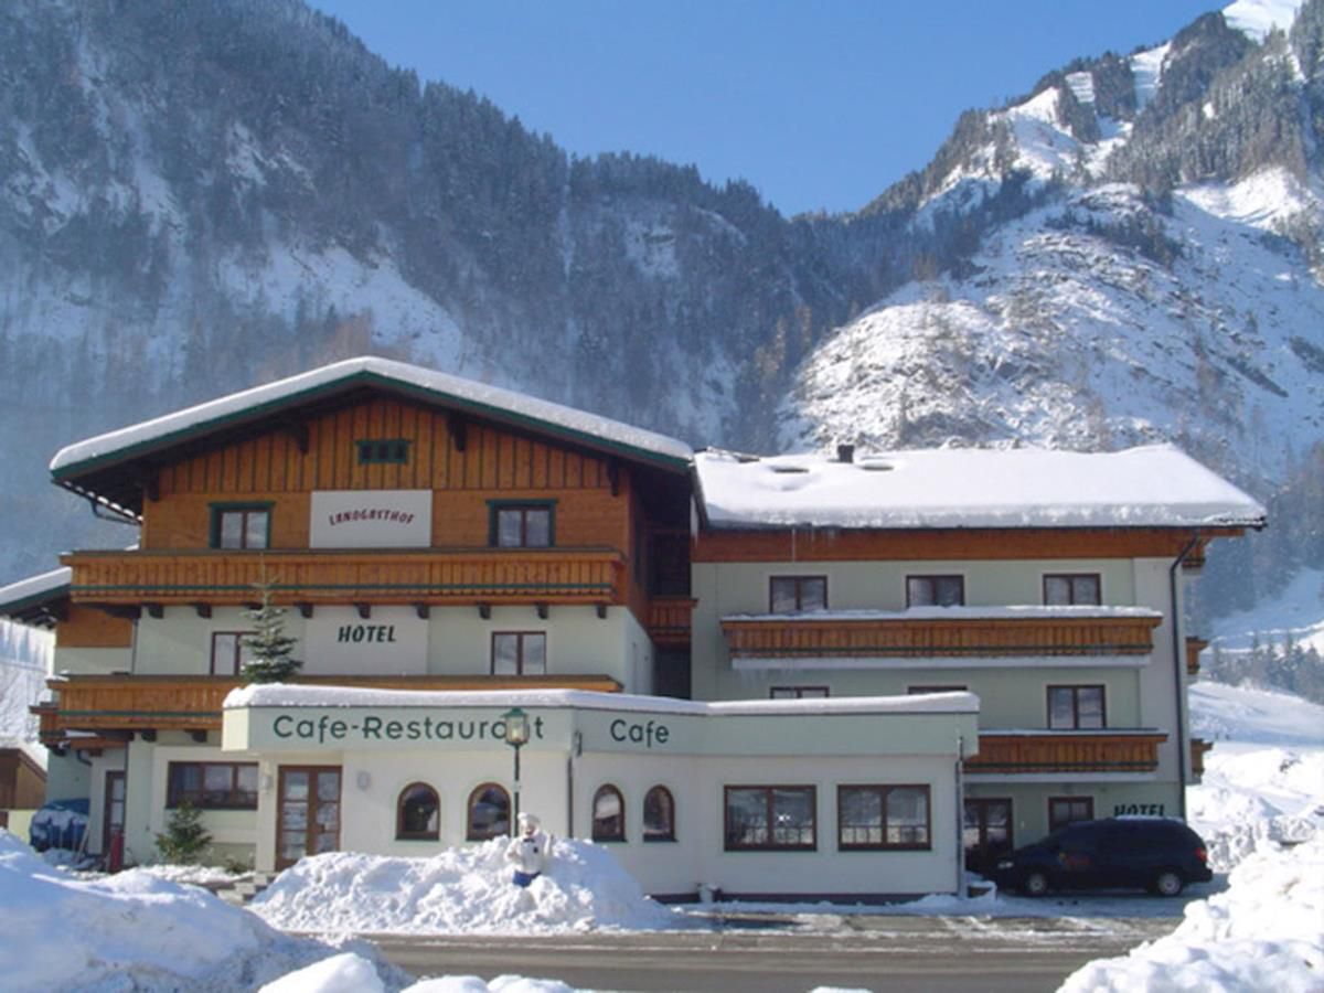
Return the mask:
{"type": "Polygon", "coordinates": [[[1177,929],[1090,963],[1059,993],[1324,989],[1324,839],[1258,851],[1177,929]]]}

